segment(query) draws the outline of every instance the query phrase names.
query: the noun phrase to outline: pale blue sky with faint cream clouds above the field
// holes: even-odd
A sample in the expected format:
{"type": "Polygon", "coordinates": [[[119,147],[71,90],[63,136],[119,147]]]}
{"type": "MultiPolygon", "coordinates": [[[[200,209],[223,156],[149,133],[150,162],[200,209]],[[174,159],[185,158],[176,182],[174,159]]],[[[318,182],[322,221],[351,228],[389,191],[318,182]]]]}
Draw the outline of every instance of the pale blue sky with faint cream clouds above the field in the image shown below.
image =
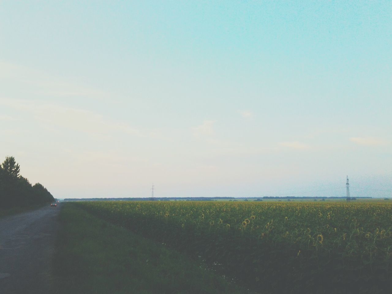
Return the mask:
{"type": "Polygon", "coordinates": [[[392,196],[392,1],[0,1],[0,161],[56,198],[392,196]]]}

